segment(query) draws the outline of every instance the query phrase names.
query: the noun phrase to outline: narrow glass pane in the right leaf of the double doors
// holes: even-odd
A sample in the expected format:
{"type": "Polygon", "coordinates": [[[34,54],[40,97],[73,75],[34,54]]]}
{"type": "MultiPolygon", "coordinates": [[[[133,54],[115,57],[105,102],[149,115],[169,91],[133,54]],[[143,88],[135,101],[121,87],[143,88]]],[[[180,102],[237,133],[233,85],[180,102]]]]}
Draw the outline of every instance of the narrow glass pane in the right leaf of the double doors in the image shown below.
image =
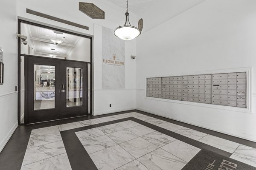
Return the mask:
{"type": "Polygon", "coordinates": [[[83,105],[83,68],[67,67],[67,108],[83,105]]]}

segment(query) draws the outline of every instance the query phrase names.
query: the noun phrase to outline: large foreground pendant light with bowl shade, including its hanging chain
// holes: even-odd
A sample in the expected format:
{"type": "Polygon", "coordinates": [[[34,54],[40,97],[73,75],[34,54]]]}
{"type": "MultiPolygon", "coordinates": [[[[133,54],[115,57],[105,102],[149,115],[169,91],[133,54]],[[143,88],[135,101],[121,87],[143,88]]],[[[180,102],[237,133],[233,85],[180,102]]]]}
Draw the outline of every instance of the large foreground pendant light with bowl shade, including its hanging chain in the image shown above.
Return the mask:
{"type": "Polygon", "coordinates": [[[132,40],[140,35],[140,30],[135,26],[131,26],[128,13],[128,0],[126,0],[125,16],[125,25],[117,27],[114,31],[114,34],[116,37],[119,37],[122,40],[132,40]]]}

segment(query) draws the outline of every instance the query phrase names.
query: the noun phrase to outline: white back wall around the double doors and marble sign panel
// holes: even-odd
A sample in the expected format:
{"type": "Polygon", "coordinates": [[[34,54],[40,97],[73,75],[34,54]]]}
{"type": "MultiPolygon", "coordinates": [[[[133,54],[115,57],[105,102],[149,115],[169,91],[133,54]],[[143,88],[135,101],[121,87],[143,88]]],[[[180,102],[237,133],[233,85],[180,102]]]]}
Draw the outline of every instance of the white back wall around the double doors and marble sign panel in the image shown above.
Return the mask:
{"type": "MultiPolygon", "coordinates": [[[[125,65],[125,89],[102,90],[102,33],[101,27],[115,29],[125,22],[125,9],[122,9],[113,3],[102,0],[19,0],[17,2],[18,17],[29,20],[35,20],[40,23],[49,24],[62,29],[76,31],[81,34],[87,34],[93,37],[93,111],[94,115],[110,113],[114,111],[125,111],[135,109],[135,60],[129,56],[135,55],[136,47],[132,41],[126,42],[126,65],[125,65]],[[105,11],[105,20],[93,20],[79,11],[79,1],[94,3],[105,11]],[[51,4],[49,6],[49,4],[51,4]],[[58,6],[58,8],[56,8],[58,6]],[[84,26],[89,26],[89,30],[76,28],[63,23],[41,18],[26,13],[26,8],[34,11],[49,14],[54,17],[69,20],[84,26]],[[99,28],[98,28],[99,27],[99,28]],[[112,104],[112,107],[109,107],[112,104]]],[[[130,22],[137,24],[136,15],[130,12],[130,22]]]]}

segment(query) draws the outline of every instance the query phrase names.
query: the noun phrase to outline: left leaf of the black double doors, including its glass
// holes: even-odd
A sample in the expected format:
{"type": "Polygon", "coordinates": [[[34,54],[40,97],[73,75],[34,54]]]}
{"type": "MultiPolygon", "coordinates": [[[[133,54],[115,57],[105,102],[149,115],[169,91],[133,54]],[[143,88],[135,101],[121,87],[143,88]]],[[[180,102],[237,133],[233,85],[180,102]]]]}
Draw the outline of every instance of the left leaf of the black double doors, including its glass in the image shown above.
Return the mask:
{"type": "Polygon", "coordinates": [[[60,61],[26,56],[26,123],[60,119],[60,61]]]}

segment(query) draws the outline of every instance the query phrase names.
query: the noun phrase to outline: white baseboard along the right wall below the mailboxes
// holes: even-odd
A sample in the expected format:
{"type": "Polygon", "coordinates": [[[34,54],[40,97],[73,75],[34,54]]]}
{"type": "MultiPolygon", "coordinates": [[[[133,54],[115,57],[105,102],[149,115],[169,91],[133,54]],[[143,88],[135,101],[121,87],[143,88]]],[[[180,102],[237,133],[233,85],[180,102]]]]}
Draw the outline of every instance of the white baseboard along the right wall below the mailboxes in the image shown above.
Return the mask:
{"type": "Polygon", "coordinates": [[[161,115],[161,113],[159,113],[157,111],[152,111],[152,110],[145,109],[145,108],[140,108],[140,107],[137,107],[136,110],[144,111],[144,112],[151,113],[151,114],[154,114],[154,115],[157,115],[157,116],[161,116],[161,117],[165,117],[165,118],[168,118],[168,119],[176,120],[176,121],[179,121],[179,122],[187,123],[189,125],[194,125],[194,126],[202,127],[202,128],[205,128],[205,129],[209,129],[209,130],[212,130],[212,131],[219,132],[219,133],[224,133],[224,134],[227,134],[227,135],[230,135],[230,136],[235,136],[235,137],[238,137],[238,138],[241,138],[241,139],[245,139],[245,140],[249,140],[249,141],[252,141],[252,142],[256,142],[256,140],[249,139],[249,138],[246,138],[244,136],[239,136],[239,135],[231,134],[231,133],[228,133],[228,132],[225,132],[225,131],[216,130],[216,129],[212,129],[212,128],[205,127],[205,126],[195,125],[195,124],[193,124],[191,122],[186,122],[186,121],[179,120],[179,119],[173,119],[172,117],[163,116],[163,115],[161,115]]]}

